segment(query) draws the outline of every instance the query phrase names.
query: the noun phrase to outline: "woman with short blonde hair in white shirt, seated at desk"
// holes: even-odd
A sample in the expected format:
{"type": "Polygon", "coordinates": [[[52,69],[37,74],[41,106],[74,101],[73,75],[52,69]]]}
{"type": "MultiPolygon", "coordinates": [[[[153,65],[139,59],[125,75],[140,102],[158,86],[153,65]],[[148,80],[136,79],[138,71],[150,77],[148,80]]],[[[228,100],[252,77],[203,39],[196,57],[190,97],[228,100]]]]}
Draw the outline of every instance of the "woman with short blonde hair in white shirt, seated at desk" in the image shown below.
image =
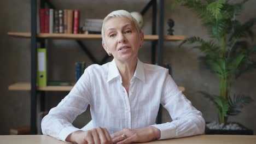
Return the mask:
{"type": "Polygon", "coordinates": [[[91,65],[71,92],[43,118],[42,131],[76,143],[132,143],[203,134],[205,121],[179,91],[168,70],[137,58],[144,40],[137,21],[125,10],[108,14],[102,46],[112,62],[91,65]],[[155,124],[160,103],[173,121],[155,124]],[[86,130],[74,119],[90,104],[86,130]]]}

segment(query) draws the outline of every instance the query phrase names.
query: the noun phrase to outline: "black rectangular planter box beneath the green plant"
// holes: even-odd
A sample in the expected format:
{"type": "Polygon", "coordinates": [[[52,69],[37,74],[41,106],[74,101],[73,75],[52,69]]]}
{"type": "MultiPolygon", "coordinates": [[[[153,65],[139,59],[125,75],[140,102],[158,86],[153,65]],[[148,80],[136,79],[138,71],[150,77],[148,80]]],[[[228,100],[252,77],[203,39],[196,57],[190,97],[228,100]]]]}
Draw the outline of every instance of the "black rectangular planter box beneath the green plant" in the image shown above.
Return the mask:
{"type": "Polygon", "coordinates": [[[207,126],[205,126],[205,134],[206,135],[253,135],[253,130],[246,128],[240,123],[232,122],[232,123],[227,123],[227,125],[228,124],[237,124],[239,125],[239,127],[242,128],[242,130],[210,129],[207,126]]]}

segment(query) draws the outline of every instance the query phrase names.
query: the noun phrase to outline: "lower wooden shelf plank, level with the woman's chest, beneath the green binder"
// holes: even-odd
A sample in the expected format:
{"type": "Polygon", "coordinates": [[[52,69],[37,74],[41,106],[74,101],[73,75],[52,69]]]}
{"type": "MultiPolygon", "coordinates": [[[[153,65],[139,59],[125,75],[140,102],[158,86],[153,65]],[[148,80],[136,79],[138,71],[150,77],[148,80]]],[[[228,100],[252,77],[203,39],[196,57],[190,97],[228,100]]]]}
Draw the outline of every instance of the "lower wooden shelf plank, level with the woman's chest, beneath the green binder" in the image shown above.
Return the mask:
{"type": "MultiPolygon", "coordinates": [[[[46,86],[46,87],[37,87],[38,91],[71,91],[74,86],[46,86]]],[[[10,85],[8,87],[10,91],[30,91],[31,85],[29,82],[18,82],[10,85]]],[[[179,89],[184,92],[184,87],[179,87],[179,89]]]]}

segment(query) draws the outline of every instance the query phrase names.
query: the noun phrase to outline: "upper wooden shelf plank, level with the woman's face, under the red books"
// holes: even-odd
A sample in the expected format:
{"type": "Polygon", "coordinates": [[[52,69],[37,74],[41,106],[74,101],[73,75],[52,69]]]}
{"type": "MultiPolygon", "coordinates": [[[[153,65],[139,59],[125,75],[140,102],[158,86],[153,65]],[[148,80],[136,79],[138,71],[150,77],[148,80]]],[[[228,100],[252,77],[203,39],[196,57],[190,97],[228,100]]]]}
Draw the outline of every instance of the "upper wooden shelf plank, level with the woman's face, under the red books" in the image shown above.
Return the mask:
{"type": "MultiPolygon", "coordinates": [[[[8,32],[13,37],[30,38],[31,33],[8,32]]],[[[38,33],[38,38],[53,39],[95,39],[101,40],[101,34],[60,34],[60,33],[38,33]]],[[[158,40],[158,35],[144,35],[144,40],[158,40]]],[[[165,35],[166,41],[184,40],[184,35],[165,35]]]]}

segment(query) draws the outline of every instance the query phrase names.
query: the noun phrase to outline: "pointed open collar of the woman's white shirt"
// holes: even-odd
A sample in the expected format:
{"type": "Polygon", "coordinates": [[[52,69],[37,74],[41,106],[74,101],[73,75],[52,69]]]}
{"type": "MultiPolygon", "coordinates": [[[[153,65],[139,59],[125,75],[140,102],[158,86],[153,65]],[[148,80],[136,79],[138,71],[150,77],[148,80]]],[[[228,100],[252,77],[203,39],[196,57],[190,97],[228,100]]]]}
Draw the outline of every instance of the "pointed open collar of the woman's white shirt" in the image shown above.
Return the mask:
{"type": "MultiPolygon", "coordinates": [[[[119,70],[117,68],[117,64],[115,64],[115,61],[113,59],[112,62],[110,62],[109,66],[108,66],[108,80],[107,80],[107,82],[111,81],[112,79],[114,79],[115,77],[118,77],[118,76],[121,78],[121,75],[120,75],[119,70]]],[[[137,61],[135,73],[134,73],[133,76],[135,76],[138,79],[145,82],[145,73],[144,73],[143,63],[141,61],[139,61],[139,59],[137,61]]],[[[121,79],[120,79],[120,81],[121,81],[121,79]]]]}

